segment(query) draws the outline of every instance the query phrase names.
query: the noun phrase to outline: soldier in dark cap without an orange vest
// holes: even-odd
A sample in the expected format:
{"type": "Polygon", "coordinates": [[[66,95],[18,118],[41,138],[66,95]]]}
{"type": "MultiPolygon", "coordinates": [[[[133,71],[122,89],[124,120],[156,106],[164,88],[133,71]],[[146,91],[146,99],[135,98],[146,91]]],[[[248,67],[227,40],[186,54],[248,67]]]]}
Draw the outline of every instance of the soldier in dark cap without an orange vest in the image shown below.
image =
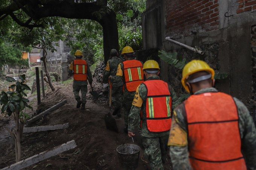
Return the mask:
{"type": "MultiPolygon", "coordinates": [[[[103,83],[108,83],[108,77],[113,77],[116,75],[116,71],[117,71],[117,66],[119,65],[119,63],[122,62],[122,59],[120,59],[117,53],[116,49],[112,49],[110,51],[110,59],[107,62],[107,66],[105,68],[105,72],[103,74],[103,83]]],[[[113,86],[113,90],[112,90],[112,104],[114,106],[114,111],[113,111],[113,115],[116,115],[118,117],[121,116],[120,114],[120,109],[122,107],[122,102],[123,102],[123,87],[122,84],[120,83],[114,83],[112,84],[113,86]]]]}

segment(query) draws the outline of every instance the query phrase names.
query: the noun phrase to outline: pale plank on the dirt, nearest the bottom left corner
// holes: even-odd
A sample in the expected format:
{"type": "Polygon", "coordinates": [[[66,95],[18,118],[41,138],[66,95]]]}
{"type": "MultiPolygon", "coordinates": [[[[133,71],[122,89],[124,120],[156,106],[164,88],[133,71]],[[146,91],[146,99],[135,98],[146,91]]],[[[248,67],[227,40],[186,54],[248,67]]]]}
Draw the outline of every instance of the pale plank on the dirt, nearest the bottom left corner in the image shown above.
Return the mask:
{"type": "Polygon", "coordinates": [[[31,156],[27,159],[24,159],[24,160],[20,161],[20,162],[12,164],[9,167],[2,168],[1,170],[23,169],[23,168],[29,167],[30,165],[33,165],[33,164],[41,162],[45,159],[48,159],[52,156],[58,155],[59,153],[65,152],[65,151],[70,150],[70,149],[74,149],[75,147],[76,147],[76,142],[75,142],[75,140],[72,140],[72,141],[64,143],[60,146],[56,146],[51,150],[41,152],[37,155],[31,156]]]}

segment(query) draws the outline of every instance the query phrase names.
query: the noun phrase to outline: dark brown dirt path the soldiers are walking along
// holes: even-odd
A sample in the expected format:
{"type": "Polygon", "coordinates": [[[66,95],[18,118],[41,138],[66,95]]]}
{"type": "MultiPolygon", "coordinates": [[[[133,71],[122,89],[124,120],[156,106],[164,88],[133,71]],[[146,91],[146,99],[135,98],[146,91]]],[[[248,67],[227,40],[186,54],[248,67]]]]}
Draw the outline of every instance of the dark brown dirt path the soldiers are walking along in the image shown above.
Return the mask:
{"type": "MultiPolygon", "coordinates": [[[[90,98],[90,95],[88,97],[90,98]]],[[[89,99],[85,111],[77,109],[71,84],[59,88],[56,92],[48,93],[38,110],[46,110],[62,99],[67,99],[66,105],[38,121],[34,126],[69,122],[69,128],[24,134],[21,143],[23,158],[33,156],[70,140],[75,140],[78,147],[27,169],[122,169],[118,161],[116,148],[123,143],[132,143],[132,140],[122,131],[123,119],[117,120],[119,133],[108,131],[104,123],[104,115],[108,112],[106,102],[99,101],[95,103],[89,99]]],[[[141,146],[138,133],[134,139],[134,143],[141,146]]],[[[14,146],[11,139],[3,141],[0,153],[2,153],[0,155],[0,168],[15,162],[14,146]]],[[[142,153],[143,148],[140,154],[142,155],[142,153]]],[[[140,159],[137,169],[146,170],[148,164],[140,159]]],[[[168,162],[165,169],[170,169],[168,162]]]]}

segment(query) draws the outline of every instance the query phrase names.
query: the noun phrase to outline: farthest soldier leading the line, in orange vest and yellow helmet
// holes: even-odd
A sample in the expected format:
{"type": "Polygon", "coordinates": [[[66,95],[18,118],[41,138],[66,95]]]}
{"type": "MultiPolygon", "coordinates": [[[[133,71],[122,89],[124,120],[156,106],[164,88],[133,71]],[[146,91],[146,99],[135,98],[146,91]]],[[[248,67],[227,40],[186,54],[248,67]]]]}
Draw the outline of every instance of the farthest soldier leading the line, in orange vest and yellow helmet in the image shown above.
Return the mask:
{"type": "Polygon", "coordinates": [[[90,71],[90,67],[87,65],[85,60],[82,60],[82,51],[77,50],[75,52],[76,59],[70,64],[69,66],[69,75],[74,75],[74,81],[73,81],[73,93],[75,95],[75,99],[77,101],[76,108],[79,108],[82,104],[81,109],[85,110],[85,104],[86,104],[86,94],[87,94],[87,78],[89,83],[91,84],[93,82],[92,75],[90,71]],[[77,62],[78,64],[75,64],[77,67],[74,68],[74,62],[77,62]],[[79,68],[79,66],[82,66],[81,68],[87,67],[86,70],[80,70],[77,72],[74,72],[75,69],[79,68]],[[80,72],[81,71],[81,72],[80,72]],[[81,79],[82,77],[82,79],[81,79]],[[81,90],[81,97],[79,96],[79,92],[81,90]]]}

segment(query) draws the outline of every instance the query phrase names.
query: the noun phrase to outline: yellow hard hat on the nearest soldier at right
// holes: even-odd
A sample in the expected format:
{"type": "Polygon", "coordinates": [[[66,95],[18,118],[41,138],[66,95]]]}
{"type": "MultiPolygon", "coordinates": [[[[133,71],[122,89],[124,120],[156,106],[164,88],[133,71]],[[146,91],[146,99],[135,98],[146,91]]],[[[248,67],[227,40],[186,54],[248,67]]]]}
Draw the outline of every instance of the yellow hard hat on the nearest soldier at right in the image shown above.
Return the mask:
{"type": "Polygon", "coordinates": [[[186,85],[187,78],[189,75],[199,71],[209,72],[212,75],[212,80],[214,79],[215,72],[206,62],[202,60],[192,60],[184,66],[182,71],[181,84],[187,92],[190,93],[189,87],[186,85]]]}

